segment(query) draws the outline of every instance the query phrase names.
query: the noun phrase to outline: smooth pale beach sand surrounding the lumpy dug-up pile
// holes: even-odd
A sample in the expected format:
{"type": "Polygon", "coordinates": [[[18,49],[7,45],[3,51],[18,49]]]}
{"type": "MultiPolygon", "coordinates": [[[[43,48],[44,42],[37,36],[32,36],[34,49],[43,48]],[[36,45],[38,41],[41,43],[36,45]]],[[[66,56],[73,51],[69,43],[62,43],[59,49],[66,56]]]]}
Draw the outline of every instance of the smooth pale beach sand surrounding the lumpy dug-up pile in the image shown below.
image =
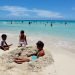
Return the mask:
{"type": "MultiPolygon", "coordinates": [[[[14,48],[15,46],[17,46],[16,44],[18,44],[17,39],[18,38],[16,35],[14,35],[13,37],[9,36],[9,40],[10,40],[9,42],[13,42],[14,48]]],[[[69,43],[68,41],[63,41],[62,39],[53,38],[53,37],[28,36],[29,45],[35,45],[35,43],[38,40],[44,41],[45,49],[52,54],[54,59],[54,64],[44,68],[41,72],[38,72],[38,73],[32,72],[30,73],[31,75],[37,75],[37,74],[38,75],[75,75],[75,47],[74,47],[75,43],[74,42],[69,43]]],[[[19,66],[21,67],[22,65],[19,65],[19,66]]],[[[3,65],[2,65],[2,68],[3,68],[3,65]]],[[[8,73],[9,75],[18,75],[18,74],[28,75],[28,73],[25,73],[24,71],[19,70],[18,68],[10,69],[6,72],[3,71],[0,73],[2,75],[7,75],[8,73]]]]}

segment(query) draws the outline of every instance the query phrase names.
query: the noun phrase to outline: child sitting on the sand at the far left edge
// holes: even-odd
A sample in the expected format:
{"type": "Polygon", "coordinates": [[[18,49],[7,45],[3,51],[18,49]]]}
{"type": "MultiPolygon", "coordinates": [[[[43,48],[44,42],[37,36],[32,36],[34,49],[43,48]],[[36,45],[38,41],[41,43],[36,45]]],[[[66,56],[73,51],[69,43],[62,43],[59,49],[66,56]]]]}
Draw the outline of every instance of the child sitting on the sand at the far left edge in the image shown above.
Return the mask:
{"type": "Polygon", "coordinates": [[[2,50],[4,50],[4,51],[9,50],[9,47],[10,47],[12,44],[8,45],[8,44],[6,43],[7,35],[6,35],[6,34],[2,34],[1,37],[2,37],[2,41],[1,41],[1,46],[0,46],[0,48],[1,48],[2,50]]]}

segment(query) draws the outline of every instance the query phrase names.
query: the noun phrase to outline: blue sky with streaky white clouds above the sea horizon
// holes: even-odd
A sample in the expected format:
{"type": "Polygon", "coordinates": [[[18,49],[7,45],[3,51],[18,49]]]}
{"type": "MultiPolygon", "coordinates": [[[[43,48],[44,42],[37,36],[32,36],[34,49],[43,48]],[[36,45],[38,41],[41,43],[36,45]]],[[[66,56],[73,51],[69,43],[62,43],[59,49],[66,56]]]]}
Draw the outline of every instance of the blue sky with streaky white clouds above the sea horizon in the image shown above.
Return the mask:
{"type": "Polygon", "coordinates": [[[0,0],[0,19],[75,20],[75,0],[0,0]]]}

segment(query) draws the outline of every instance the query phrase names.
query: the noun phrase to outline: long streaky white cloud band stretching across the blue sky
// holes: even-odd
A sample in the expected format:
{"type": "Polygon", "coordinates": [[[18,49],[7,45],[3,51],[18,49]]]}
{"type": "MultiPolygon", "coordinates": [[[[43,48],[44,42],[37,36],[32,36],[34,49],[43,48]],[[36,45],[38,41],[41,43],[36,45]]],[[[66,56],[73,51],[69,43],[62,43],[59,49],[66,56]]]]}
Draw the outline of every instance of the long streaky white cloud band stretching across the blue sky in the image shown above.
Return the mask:
{"type": "Polygon", "coordinates": [[[0,10],[8,11],[9,16],[20,16],[20,17],[46,17],[46,18],[63,18],[58,12],[41,9],[27,9],[19,6],[1,6],[0,10]]]}

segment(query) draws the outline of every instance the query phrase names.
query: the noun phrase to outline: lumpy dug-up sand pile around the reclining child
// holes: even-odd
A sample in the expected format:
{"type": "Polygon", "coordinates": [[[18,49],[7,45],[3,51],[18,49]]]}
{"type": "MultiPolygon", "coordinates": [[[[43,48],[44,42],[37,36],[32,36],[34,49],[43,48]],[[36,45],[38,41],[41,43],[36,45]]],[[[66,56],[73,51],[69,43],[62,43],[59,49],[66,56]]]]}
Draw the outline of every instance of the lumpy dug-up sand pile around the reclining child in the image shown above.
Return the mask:
{"type": "MultiPolygon", "coordinates": [[[[7,54],[0,56],[0,75],[43,75],[41,72],[46,67],[52,65],[54,60],[50,53],[36,59],[35,61],[24,62],[23,64],[16,64],[13,62],[14,57],[27,57],[30,54],[36,53],[35,47],[17,48],[7,54]],[[21,54],[20,54],[21,53],[21,54]]],[[[44,72],[43,72],[44,73],[44,72]]],[[[53,74],[55,75],[55,71],[53,74]]]]}

